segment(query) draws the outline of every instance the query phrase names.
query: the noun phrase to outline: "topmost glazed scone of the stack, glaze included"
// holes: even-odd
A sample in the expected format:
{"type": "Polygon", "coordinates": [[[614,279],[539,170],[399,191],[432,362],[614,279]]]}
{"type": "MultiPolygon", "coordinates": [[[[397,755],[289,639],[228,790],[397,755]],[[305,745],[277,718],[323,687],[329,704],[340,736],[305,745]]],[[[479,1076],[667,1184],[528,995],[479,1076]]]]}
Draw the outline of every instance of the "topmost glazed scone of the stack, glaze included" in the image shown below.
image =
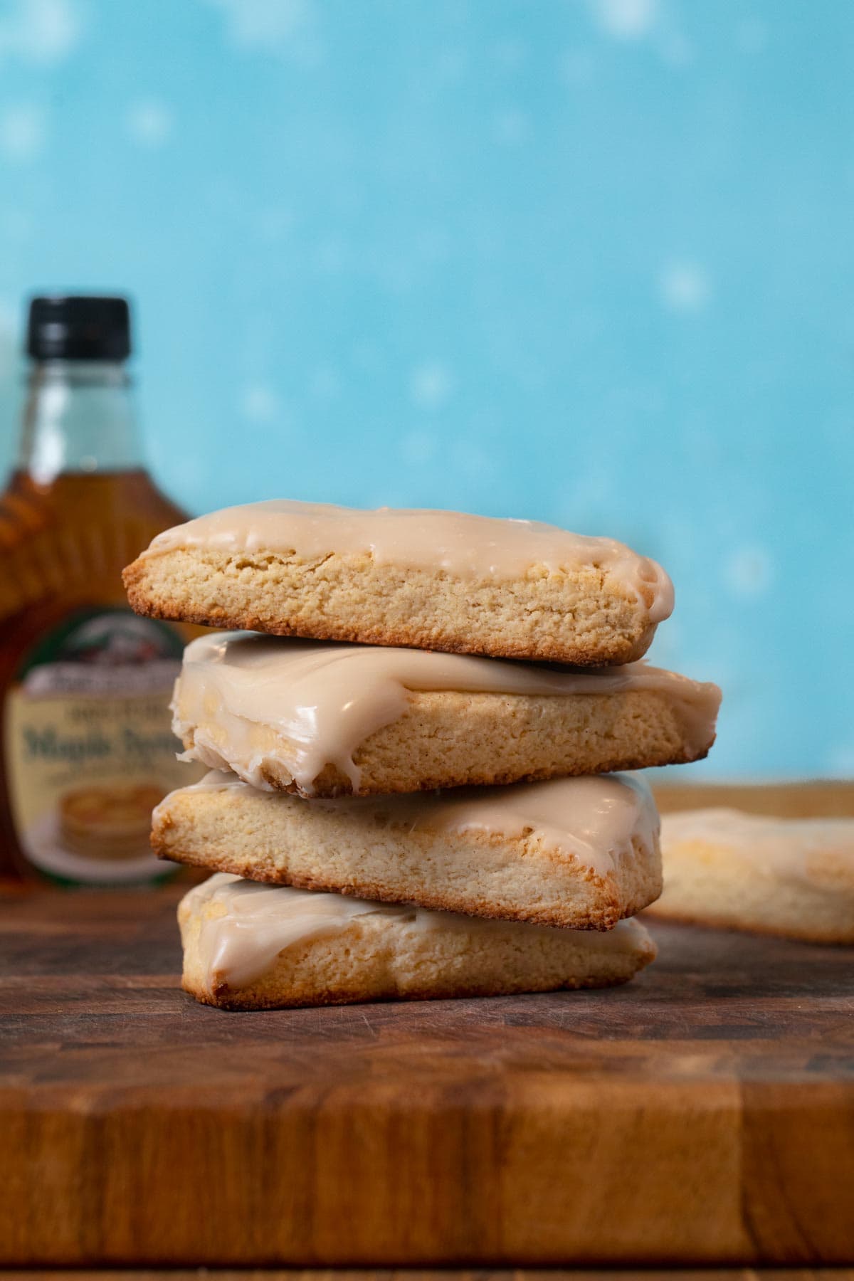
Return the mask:
{"type": "Polygon", "coordinates": [[[661,566],[609,538],[288,501],[165,530],[124,585],[159,619],[581,666],[640,658],[673,607],[661,566]]]}

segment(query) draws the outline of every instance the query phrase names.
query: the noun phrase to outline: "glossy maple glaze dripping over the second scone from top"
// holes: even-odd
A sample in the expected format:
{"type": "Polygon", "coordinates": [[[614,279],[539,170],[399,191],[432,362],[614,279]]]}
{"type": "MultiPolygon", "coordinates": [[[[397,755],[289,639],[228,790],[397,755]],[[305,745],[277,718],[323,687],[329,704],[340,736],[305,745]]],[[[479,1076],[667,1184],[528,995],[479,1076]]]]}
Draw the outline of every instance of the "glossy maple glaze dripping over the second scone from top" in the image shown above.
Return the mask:
{"type": "Polygon", "coordinates": [[[245,633],[218,633],[187,646],[173,701],[174,731],[192,737],[192,758],[225,762],[254,787],[269,789],[264,767],[274,761],[310,794],[329,763],[357,792],[353,756],[406,712],[412,690],[568,697],[632,689],[662,693],[677,711],[688,746],[708,747],[721,701],[717,685],[644,662],[575,671],[245,633]]]}

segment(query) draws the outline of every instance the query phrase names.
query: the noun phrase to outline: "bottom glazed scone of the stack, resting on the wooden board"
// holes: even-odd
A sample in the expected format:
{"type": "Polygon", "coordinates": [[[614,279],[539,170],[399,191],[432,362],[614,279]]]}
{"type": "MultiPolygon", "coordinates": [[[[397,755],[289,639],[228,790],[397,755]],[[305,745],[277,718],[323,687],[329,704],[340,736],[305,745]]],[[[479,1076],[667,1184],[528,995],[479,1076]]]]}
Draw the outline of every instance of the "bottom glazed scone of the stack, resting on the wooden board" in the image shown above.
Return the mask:
{"type": "Polygon", "coordinates": [[[602,988],[656,956],[636,921],[549,930],[222,874],[184,895],[178,920],[184,990],[225,1009],[602,988]]]}

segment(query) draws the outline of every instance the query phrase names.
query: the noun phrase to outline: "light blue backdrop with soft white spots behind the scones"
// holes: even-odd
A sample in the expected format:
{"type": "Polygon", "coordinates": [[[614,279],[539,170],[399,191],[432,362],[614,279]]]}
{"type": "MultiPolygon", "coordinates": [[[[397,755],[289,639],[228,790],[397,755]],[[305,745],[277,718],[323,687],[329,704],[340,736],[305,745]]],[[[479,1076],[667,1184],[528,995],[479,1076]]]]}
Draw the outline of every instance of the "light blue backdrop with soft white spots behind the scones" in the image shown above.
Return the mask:
{"type": "Polygon", "coordinates": [[[854,772],[849,0],[4,0],[0,407],[129,290],[157,478],[534,516],[677,591],[704,776],[854,772]]]}

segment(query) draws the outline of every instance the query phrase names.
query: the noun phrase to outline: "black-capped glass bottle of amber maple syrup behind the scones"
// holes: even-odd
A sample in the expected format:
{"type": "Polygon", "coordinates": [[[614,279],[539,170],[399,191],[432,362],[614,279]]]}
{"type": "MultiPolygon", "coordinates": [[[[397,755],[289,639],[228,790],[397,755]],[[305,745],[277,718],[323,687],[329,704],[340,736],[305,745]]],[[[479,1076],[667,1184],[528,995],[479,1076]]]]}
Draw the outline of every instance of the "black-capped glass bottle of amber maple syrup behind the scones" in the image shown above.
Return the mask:
{"type": "Polygon", "coordinates": [[[168,874],[151,808],[192,781],[168,710],[189,635],[120,573],[186,520],[140,450],[120,297],[37,297],[17,469],[0,497],[0,874],[115,885],[168,874]]]}

